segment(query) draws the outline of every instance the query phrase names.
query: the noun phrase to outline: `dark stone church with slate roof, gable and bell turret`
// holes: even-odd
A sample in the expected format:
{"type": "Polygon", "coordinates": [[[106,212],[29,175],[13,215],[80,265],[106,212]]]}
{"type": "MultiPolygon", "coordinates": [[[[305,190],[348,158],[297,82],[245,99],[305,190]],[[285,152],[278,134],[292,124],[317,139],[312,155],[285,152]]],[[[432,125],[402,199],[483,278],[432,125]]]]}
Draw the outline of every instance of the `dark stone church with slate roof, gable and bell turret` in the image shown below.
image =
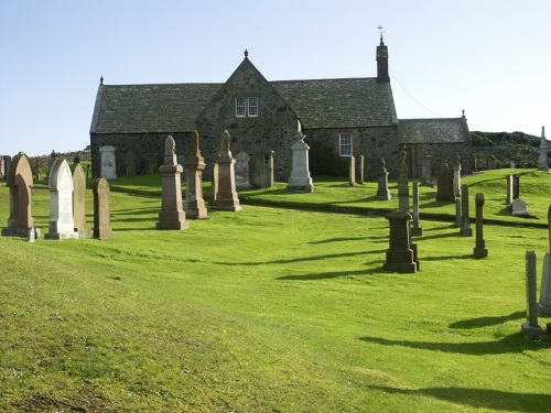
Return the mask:
{"type": "Polygon", "coordinates": [[[365,156],[365,173],[375,177],[385,159],[396,176],[398,151],[404,149],[409,173],[421,174],[432,154],[434,172],[444,160],[460,155],[463,173],[472,172],[472,148],[465,116],[398,119],[390,87],[388,47],[377,46],[377,76],[363,78],[267,80],[248,57],[225,83],[106,85],[101,78],[90,127],[93,174],[100,174],[99,148],[116,148],[117,166],[126,171],[126,154],[136,154],[138,173],[145,159],[162,164],[164,141],[171,134],[177,155],[187,155],[191,132],[199,133],[199,149],[210,176],[220,135],[228,130],[234,155],[273,151],[276,181],[291,174],[298,124],[310,145],[313,175],[348,173],[350,155],[365,156]]]}

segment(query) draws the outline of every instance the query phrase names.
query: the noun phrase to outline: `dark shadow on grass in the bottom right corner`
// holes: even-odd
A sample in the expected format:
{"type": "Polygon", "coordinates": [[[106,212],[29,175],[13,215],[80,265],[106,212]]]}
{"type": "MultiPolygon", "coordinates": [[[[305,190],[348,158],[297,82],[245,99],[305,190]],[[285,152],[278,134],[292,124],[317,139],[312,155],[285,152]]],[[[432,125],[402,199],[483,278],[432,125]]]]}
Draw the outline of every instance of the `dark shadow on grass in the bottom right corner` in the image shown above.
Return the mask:
{"type": "Polygon", "coordinates": [[[392,394],[422,395],[463,404],[472,409],[491,409],[514,412],[548,412],[551,405],[550,394],[517,393],[488,389],[465,388],[425,388],[398,389],[390,387],[372,387],[392,394]]]}

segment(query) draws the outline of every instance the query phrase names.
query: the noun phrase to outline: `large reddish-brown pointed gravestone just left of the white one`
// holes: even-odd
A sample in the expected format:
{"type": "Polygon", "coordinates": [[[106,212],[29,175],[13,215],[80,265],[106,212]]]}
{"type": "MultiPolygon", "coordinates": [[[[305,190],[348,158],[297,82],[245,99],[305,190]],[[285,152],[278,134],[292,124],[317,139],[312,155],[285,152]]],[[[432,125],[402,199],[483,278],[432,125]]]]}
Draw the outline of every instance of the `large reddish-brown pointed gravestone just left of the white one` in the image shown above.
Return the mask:
{"type": "Polygon", "coordinates": [[[34,232],[32,237],[40,238],[40,229],[34,228],[31,209],[33,174],[24,152],[19,152],[11,160],[7,181],[10,188],[10,216],[2,236],[29,238],[30,232],[34,232]]]}

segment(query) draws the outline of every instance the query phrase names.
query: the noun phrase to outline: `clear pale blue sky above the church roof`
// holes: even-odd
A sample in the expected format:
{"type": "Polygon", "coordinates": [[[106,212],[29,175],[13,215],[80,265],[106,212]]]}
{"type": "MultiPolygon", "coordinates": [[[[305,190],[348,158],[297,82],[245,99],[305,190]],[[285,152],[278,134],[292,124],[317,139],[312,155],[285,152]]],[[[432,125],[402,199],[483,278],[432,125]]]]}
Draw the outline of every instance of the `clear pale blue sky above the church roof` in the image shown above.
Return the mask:
{"type": "MultiPolygon", "coordinates": [[[[99,85],[375,77],[399,119],[551,129],[549,0],[0,0],[0,154],[89,144],[99,85]]],[[[549,132],[551,133],[551,132],[549,132]]],[[[548,138],[549,138],[548,133],[548,138]]]]}

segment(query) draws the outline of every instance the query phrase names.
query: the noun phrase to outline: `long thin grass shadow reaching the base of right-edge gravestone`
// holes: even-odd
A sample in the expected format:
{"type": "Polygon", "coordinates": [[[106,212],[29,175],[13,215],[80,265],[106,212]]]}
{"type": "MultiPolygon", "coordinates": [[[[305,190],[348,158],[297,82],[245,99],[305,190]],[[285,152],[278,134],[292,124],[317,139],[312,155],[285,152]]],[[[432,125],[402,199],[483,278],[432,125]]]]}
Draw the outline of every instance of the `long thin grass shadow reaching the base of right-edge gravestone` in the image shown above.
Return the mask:
{"type": "Polygon", "coordinates": [[[495,341],[479,343],[432,343],[432,341],[408,341],[408,340],[389,340],[380,337],[359,337],[361,341],[375,343],[383,346],[401,346],[418,348],[420,350],[439,351],[439,352],[455,352],[471,356],[485,355],[504,355],[508,352],[523,352],[527,349],[542,350],[550,349],[551,341],[544,339],[541,341],[527,341],[522,334],[514,334],[495,341]]]}

